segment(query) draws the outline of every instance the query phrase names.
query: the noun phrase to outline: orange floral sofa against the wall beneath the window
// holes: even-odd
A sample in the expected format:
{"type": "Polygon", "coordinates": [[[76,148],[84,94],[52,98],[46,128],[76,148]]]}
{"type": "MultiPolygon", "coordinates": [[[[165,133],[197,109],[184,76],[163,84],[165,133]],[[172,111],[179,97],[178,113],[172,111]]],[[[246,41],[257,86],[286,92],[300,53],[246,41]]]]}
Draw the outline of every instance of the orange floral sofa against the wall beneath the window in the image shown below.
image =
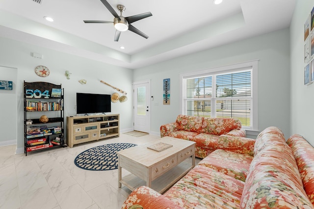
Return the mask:
{"type": "Polygon", "coordinates": [[[245,130],[236,118],[179,115],[176,122],[160,126],[161,137],[195,141],[195,156],[205,158],[216,149],[252,153],[255,139],[245,138],[245,130]]]}

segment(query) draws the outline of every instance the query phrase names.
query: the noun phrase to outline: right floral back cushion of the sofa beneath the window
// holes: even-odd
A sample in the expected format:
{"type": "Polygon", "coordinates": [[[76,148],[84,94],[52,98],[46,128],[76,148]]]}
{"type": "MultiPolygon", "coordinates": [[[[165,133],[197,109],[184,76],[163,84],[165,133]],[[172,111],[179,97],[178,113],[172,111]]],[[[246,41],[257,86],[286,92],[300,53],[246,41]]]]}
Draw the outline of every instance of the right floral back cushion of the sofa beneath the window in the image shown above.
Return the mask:
{"type": "Polygon", "coordinates": [[[204,117],[201,132],[219,136],[240,128],[241,122],[237,118],[204,117]]]}

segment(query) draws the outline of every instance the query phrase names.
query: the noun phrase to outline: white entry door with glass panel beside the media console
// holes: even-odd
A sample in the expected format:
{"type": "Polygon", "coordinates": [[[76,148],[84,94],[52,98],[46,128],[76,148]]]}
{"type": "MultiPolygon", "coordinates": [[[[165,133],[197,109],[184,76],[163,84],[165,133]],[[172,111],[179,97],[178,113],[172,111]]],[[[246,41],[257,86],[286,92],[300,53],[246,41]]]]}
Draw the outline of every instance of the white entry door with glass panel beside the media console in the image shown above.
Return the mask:
{"type": "Polygon", "coordinates": [[[151,130],[151,84],[150,81],[133,83],[134,131],[149,133],[151,130]]]}

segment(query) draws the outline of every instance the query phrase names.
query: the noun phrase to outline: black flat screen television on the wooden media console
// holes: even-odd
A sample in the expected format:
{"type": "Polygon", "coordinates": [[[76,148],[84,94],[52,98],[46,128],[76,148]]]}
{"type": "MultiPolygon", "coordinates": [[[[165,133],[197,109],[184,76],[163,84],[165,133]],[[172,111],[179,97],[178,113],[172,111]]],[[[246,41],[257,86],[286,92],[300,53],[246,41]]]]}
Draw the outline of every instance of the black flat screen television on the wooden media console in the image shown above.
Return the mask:
{"type": "Polygon", "coordinates": [[[77,93],[77,114],[110,113],[111,95],[77,93]]]}

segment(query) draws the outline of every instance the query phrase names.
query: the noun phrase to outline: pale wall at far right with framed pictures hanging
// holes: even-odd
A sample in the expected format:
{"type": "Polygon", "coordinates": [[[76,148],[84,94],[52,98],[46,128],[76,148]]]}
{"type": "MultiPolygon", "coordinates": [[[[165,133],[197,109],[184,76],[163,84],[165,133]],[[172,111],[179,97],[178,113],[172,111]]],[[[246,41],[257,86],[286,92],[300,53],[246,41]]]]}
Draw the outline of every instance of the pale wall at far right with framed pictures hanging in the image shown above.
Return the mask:
{"type": "Polygon", "coordinates": [[[304,85],[304,23],[314,0],[297,0],[290,24],[291,133],[302,135],[314,146],[314,84],[304,85]]]}

